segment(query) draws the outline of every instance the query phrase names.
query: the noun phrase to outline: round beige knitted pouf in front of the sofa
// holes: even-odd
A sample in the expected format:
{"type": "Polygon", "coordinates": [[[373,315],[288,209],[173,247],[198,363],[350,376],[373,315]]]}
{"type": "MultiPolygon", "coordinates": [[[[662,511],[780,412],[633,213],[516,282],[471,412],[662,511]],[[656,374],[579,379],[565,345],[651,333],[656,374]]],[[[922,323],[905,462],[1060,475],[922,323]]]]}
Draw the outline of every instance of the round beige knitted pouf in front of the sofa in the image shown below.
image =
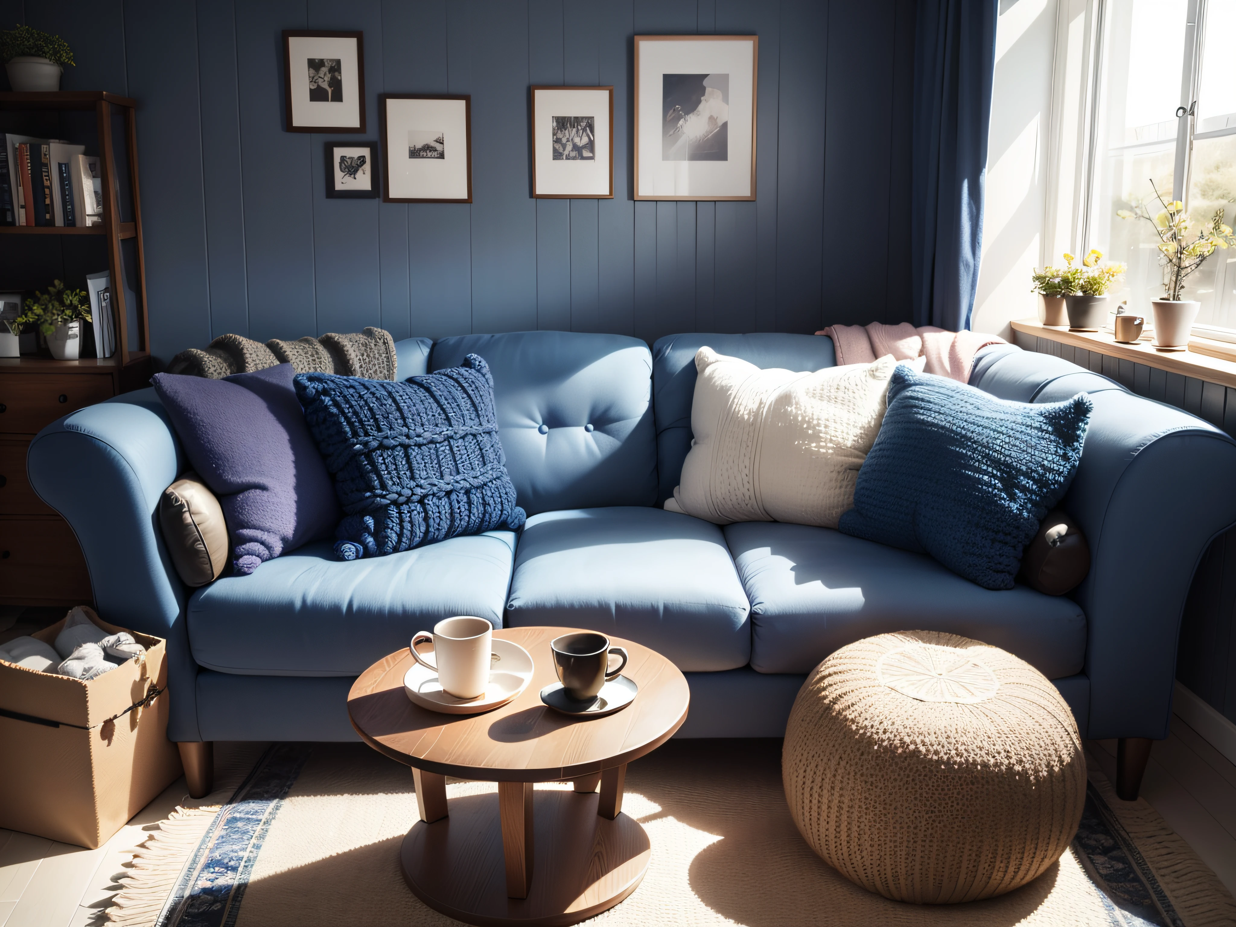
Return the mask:
{"type": "Polygon", "coordinates": [[[842,648],[807,677],[781,756],[800,833],[850,881],[896,901],[1002,895],[1069,845],[1082,738],[1038,670],[937,632],[842,648]]]}

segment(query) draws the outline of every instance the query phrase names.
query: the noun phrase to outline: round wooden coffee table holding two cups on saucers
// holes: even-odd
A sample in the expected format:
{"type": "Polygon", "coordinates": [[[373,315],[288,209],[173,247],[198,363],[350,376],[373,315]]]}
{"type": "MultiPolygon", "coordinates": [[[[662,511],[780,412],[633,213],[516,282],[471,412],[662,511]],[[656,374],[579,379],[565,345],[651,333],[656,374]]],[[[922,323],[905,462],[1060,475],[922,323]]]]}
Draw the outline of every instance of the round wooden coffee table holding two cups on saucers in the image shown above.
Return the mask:
{"type": "Polygon", "coordinates": [[[648,834],[622,813],[623,780],[628,763],[686,721],[687,681],[656,651],[611,638],[630,655],[623,675],[639,686],[635,701],[590,721],[560,714],[540,690],[556,681],[550,640],[572,630],[493,632],[531,654],[535,670],[518,698],[483,714],[413,705],[403,691],[408,650],[352,685],[347,713],[356,733],[412,766],[420,821],[403,840],[403,876],[444,915],[478,925],[577,923],[630,895],[648,870],[648,834]],[[446,776],[496,781],[498,794],[455,798],[447,808],[446,776]],[[557,781],[574,781],[575,790],[533,792],[533,782],[557,781]]]}

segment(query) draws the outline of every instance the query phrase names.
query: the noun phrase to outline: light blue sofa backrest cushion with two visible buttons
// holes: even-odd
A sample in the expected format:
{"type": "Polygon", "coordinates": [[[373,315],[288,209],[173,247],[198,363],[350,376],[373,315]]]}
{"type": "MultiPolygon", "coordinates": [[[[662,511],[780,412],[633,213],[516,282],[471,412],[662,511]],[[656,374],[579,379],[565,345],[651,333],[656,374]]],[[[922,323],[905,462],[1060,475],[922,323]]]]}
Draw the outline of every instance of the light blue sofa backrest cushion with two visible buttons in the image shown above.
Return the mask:
{"type": "Polygon", "coordinates": [[[470,353],[493,375],[507,472],[529,515],[655,502],[648,345],[571,331],[460,335],[434,344],[429,370],[470,353]]]}

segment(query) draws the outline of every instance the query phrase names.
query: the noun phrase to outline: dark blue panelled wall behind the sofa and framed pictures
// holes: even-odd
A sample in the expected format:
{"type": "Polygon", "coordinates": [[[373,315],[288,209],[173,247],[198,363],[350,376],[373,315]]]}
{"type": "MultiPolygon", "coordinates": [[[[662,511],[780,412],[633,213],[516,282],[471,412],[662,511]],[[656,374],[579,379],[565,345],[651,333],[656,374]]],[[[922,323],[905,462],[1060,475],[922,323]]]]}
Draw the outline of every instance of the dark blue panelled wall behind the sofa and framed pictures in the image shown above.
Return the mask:
{"type": "MultiPolygon", "coordinates": [[[[64,89],[140,101],[161,362],[224,332],[910,319],[913,0],[0,0],[12,22],[69,42],[64,89]],[[365,31],[365,136],[283,131],[284,28],[365,31]],[[759,36],[755,201],[630,198],[637,33],[759,36]],[[530,84],[614,85],[614,199],[531,198],[530,84]],[[376,140],[384,91],[472,95],[471,205],[325,198],[323,142],[376,140]]],[[[85,273],[4,250],[0,289],[85,273]]]]}

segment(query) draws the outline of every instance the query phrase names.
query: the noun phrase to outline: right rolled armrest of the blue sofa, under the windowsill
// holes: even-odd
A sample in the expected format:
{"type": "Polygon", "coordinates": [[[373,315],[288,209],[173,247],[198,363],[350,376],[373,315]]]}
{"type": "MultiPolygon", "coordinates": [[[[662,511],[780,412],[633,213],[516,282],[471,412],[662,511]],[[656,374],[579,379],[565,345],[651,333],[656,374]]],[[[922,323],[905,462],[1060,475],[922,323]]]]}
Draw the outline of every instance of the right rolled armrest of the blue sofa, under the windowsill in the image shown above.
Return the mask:
{"type": "MultiPolygon", "coordinates": [[[[1044,391],[1038,402],[1064,397],[1044,391]]],[[[1072,593],[1086,616],[1086,737],[1167,737],[1177,644],[1193,575],[1236,523],[1236,441],[1122,389],[1094,412],[1063,508],[1090,543],[1072,593]]]]}

